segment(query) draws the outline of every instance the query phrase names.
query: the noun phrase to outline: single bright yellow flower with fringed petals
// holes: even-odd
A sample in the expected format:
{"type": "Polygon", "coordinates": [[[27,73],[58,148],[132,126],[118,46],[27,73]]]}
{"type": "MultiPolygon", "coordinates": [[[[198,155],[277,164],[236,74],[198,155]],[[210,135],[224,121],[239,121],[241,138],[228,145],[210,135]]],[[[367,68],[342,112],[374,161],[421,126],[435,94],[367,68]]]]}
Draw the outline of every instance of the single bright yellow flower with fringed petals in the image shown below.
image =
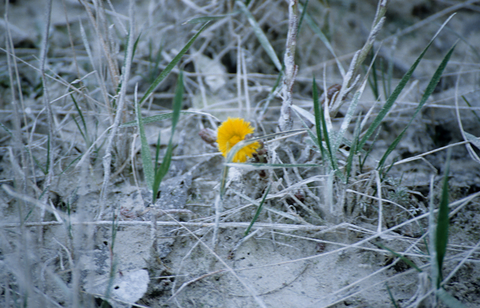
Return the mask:
{"type": "MultiPolygon", "coordinates": [[[[216,135],[216,142],[218,149],[222,152],[224,157],[227,157],[230,149],[239,141],[245,139],[245,136],[252,134],[255,129],[250,126],[250,122],[245,122],[241,118],[230,118],[218,126],[218,133],[216,135]]],[[[252,154],[260,147],[258,142],[253,142],[248,146],[240,148],[240,150],[233,157],[233,162],[245,162],[247,158],[252,157],[252,154]]]]}

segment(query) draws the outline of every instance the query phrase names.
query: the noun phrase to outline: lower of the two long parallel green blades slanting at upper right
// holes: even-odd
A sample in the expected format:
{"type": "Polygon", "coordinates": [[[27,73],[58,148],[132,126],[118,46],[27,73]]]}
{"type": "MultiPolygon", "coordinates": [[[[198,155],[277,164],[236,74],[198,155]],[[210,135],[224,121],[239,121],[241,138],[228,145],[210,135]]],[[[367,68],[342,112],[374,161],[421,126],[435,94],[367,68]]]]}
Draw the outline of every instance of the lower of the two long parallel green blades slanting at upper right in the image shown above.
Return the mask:
{"type": "Polygon", "coordinates": [[[440,81],[440,78],[442,77],[442,73],[444,72],[444,69],[445,69],[447,63],[450,60],[450,57],[452,56],[452,53],[455,49],[455,46],[456,45],[454,45],[452,48],[450,48],[450,50],[448,51],[448,53],[446,54],[446,56],[444,57],[444,59],[440,63],[439,67],[437,68],[437,70],[433,74],[432,79],[428,83],[427,89],[425,89],[425,93],[423,93],[423,96],[420,100],[420,103],[418,104],[417,108],[415,109],[415,112],[413,113],[412,117],[410,118],[410,121],[408,121],[407,126],[405,126],[405,128],[400,133],[400,135],[398,135],[395,138],[395,140],[392,142],[392,144],[387,148],[386,152],[384,153],[384,156],[382,157],[382,159],[378,163],[377,169],[382,169],[388,155],[390,155],[390,153],[392,153],[392,151],[396,148],[396,146],[400,142],[400,139],[403,137],[403,135],[405,135],[405,132],[407,131],[408,126],[410,126],[410,124],[413,122],[413,119],[415,119],[417,114],[420,112],[420,109],[427,102],[427,99],[430,97],[433,90],[435,90],[435,87],[437,86],[438,82],[440,81]]]}

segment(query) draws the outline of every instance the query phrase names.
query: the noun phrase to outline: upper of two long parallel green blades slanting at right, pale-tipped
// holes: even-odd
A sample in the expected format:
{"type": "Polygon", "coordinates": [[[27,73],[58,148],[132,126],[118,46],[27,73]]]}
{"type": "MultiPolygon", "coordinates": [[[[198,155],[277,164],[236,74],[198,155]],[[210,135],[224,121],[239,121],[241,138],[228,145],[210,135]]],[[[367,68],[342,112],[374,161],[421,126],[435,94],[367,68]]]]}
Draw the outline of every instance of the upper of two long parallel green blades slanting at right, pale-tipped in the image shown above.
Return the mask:
{"type": "Polygon", "coordinates": [[[437,31],[437,33],[435,35],[433,35],[432,39],[430,40],[430,42],[428,43],[428,45],[425,47],[425,49],[423,49],[422,53],[420,54],[420,56],[415,60],[415,62],[413,63],[413,65],[408,69],[408,71],[405,73],[405,75],[403,75],[402,79],[400,80],[400,82],[398,83],[398,85],[396,86],[395,90],[392,92],[392,95],[390,95],[390,97],[388,97],[387,101],[385,102],[384,106],[382,107],[382,109],[380,110],[380,112],[377,114],[377,116],[375,117],[375,119],[373,120],[373,123],[372,125],[370,125],[370,127],[367,129],[367,132],[365,133],[365,135],[363,136],[363,138],[360,140],[359,142],[359,145],[358,145],[358,148],[362,148],[365,143],[367,142],[368,138],[370,138],[370,136],[372,136],[373,134],[373,131],[380,125],[380,123],[382,123],[385,115],[390,111],[390,109],[392,108],[393,104],[395,103],[396,99],[398,98],[398,95],[400,95],[400,92],[403,90],[403,88],[405,88],[405,86],[407,85],[407,82],[408,80],[410,79],[410,77],[412,76],[413,74],[413,71],[415,70],[415,68],[417,68],[418,64],[420,63],[420,60],[423,58],[423,56],[425,55],[425,53],[427,52],[428,48],[430,47],[430,45],[432,45],[433,43],[433,40],[435,39],[435,37],[438,35],[438,33],[444,28],[445,24],[448,23],[448,21],[450,21],[450,19],[453,17],[453,15],[450,15],[450,17],[442,24],[442,26],[440,27],[440,29],[437,31]]]}

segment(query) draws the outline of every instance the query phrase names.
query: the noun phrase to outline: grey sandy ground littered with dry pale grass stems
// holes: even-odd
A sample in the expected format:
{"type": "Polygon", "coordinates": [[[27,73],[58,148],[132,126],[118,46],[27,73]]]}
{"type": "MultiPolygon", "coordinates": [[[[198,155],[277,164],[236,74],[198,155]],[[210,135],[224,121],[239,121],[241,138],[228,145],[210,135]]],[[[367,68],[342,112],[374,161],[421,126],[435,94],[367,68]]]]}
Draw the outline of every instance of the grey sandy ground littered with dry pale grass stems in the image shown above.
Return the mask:
{"type": "MultiPolygon", "coordinates": [[[[231,168],[214,244],[224,158],[198,133],[204,128],[215,130],[228,116],[251,121],[255,136],[275,132],[280,95],[264,113],[261,110],[278,70],[234,1],[142,0],[135,1],[132,9],[126,0],[112,0],[112,7],[110,1],[103,1],[104,8],[80,2],[53,1],[48,92],[41,87],[38,70],[48,1],[10,1],[8,11],[1,4],[0,112],[6,128],[0,130],[0,182],[5,185],[0,189],[0,302],[4,307],[100,307],[100,298],[106,297],[112,307],[447,307],[429,295],[432,270],[427,246],[432,228],[427,213],[430,202],[434,207],[440,202],[447,151],[407,159],[464,141],[462,131],[480,136],[478,5],[451,9],[463,1],[390,1],[373,48],[378,51],[379,78],[382,70],[386,76],[390,65],[390,92],[444,20],[452,12],[456,15],[420,62],[375,142],[368,143],[373,146],[362,168],[355,162],[348,184],[335,177],[329,181],[308,135],[266,143],[271,162],[319,167],[231,168]],[[171,167],[156,204],[149,202],[140,137],[132,127],[120,128],[115,138],[111,177],[102,200],[102,158],[108,136],[104,132],[117,102],[118,83],[112,72],[117,67],[122,73],[128,16],[135,20],[134,39],[139,35],[140,39],[121,123],[134,119],[135,85],[144,93],[199,28],[184,22],[232,11],[212,22],[177,66],[185,70],[183,109],[214,117],[180,117],[171,167]],[[12,50],[7,47],[7,29],[16,66],[5,53],[12,50]],[[387,164],[400,163],[381,183],[379,222],[376,163],[408,125],[433,72],[455,43],[440,83],[387,160],[387,164]],[[17,71],[20,83],[14,77],[11,87],[9,76],[17,71]],[[18,86],[23,97],[15,90],[18,86]],[[51,149],[45,95],[53,112],[51,149]],[[83,111],[86,127],[72,97],[83,111]],[[85,130],[88,136],[80,133],[85,130]],[[90,147],[87,159],[75,160],[90,147]],[[50,152],[54,176],[44,194],[48,177],[42,168],[46,169],[50,152]],[[271,190],[257,224],[244,238],[268,186],[271,190]],[[152,228],[155,222],[157,227],[152,228]],[[397,258],[392,251],[405,257],[397,258]]],[[[252,2],[253,16],[282,59],[288,29],[286,1],[252,2]]],[[[375,1],[310,0],[308,5],[345,69],[363,46],[375,9],[375,1]]],[[[360,70],[362,76],[367,62],[360,70]]],[[[341,83],[342,75],[305,20],[296,63],[294,104],[313,113],[312,75],[319,89],[324,82],[327,87],[341,83]]],[[[171,108],[177,75],[175,68],[143,104],[144,116],[171,108]]],[[[378,113],[385,102],[384,86],[380,88],[382,95],[375,102],[372,88],[366,87],[356,112],[362,119],[369,110],[378,113]]],[[[346,101],[351,99],[350,94],[346,101]]],[[[332,119],[334,129],[339,129],[347,106],[332,119]]],[[[298,118],[294,121],[294,128],[302,127],[298,118]]],[[[354,125],[348,128],[350,140],[354,125]]],[[[170,126],[169,120],[145,125],[152,155],[159,133],[160,155],[165,153],[170,126]]],[[[452,147],[450,233],[443,274],[448,277],[444,289],[473,308],[480,306],[480,165],[474,159],[478,148],[470,148],[452,147]]],[[[342,148],[339,161],[346,160],[348,150],[342,148]]]]}

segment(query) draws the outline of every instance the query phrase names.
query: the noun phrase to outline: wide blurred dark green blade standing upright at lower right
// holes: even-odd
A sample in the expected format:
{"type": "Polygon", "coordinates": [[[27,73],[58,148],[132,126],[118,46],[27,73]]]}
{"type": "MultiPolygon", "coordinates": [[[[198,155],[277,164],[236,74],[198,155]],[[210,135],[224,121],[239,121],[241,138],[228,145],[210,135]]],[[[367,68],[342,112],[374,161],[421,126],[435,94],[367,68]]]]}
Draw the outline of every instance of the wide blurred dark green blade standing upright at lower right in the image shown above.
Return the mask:
{"type": "Polygon", "coordinates": [[[438,208],[437,230],[435,236],[435,251],[437,252],[438,279],[437,289],[442,282],[442,264],[444,262],[445,252],[448,242],[448,173],[450,171],[451,148],[448,149],[447,161],[445,162],[444,180],[442,185],[442,200],[438,208]]]}

